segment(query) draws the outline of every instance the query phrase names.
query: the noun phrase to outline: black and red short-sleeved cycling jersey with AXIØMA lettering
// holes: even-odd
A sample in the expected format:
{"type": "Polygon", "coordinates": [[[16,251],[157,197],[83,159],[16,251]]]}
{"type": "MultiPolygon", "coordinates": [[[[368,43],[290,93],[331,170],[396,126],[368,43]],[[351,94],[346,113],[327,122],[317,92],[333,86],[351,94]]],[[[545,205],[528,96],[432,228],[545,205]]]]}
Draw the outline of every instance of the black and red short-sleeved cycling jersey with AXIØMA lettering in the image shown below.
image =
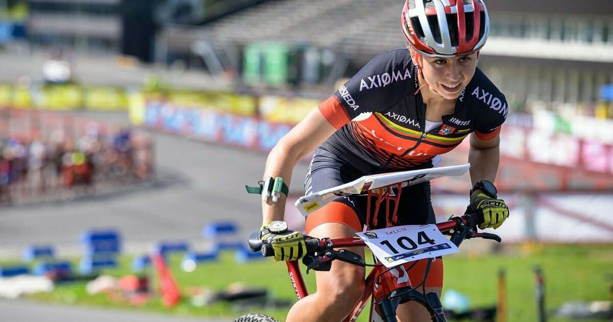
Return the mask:
{"type": "MultiPolygon", "coordinates": [[[[319,110],[338,129],[324,143],[347,161],[365,161],[384,169],[407,169],[430,164],[475,132],[491,139],[500,132],[508,105],[504,95],[479,70],[443,124],[424,131],[426,106],[417,91],[417,69],[407,48],[373,58],[319,110]],[[353,120],[371,113],[364,120],[353,120]],[[357,158],[357,159],[356,159],[357,158]]],[[[363,118],[363,117],[362,117],[363,118]]]]}

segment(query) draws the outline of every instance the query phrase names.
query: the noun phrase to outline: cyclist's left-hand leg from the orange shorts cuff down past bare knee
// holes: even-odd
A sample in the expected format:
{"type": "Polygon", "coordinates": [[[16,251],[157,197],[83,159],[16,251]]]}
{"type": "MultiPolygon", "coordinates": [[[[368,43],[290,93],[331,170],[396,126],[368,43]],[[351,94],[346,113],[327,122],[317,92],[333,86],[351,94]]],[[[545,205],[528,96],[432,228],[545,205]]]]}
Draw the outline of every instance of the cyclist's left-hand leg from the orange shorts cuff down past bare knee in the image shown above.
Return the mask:
{"type": "MultiPolygon", "coordinates": [[[[313,237],[352,237],[361,223],[354,210],[342,202],[331,202],[307,218],[307,234],[313,237]]],[[[362,229],[359,229],[362,231],[362,229]]],[[[347,248],[364,258],[363,247],[347,248]]],[[[316,271],[316,293],[300,299],[287,321],[342,321],[364,292],[364,267],[333,261],[329,272],[316,271]]]]}

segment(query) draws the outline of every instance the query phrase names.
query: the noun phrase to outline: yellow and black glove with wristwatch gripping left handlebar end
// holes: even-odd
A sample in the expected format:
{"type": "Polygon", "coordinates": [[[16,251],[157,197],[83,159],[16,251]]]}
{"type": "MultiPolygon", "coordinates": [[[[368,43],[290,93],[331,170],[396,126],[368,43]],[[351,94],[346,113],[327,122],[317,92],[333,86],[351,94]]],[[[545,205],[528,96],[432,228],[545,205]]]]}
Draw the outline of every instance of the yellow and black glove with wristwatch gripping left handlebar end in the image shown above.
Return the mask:
{"type": "Polygon", "coordinates": [[[271,232],[268,229],[270,223],[272,221],[262,225],[260,239],[272,246],[275,251],[275,261],[296,261],[307,255],[307,245],[305,245],[302,232],[292,231],[291,229],[271,232]]]}

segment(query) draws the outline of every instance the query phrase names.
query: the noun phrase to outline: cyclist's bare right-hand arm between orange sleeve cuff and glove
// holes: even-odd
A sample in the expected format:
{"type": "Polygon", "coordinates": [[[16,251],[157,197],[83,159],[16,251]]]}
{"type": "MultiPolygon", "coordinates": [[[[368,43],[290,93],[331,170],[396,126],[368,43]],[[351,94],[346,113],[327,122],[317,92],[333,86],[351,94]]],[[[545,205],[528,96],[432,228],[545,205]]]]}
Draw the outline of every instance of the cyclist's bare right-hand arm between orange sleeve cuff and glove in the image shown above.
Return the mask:
{"type": "Polygon", "coordinates": [[[494,182],[500,161],[500,132],[489,140],[479,139],[474,133],[470,136],[470,150],[468,162],[470,163],[471,185],[488,180],[494,182]]]}

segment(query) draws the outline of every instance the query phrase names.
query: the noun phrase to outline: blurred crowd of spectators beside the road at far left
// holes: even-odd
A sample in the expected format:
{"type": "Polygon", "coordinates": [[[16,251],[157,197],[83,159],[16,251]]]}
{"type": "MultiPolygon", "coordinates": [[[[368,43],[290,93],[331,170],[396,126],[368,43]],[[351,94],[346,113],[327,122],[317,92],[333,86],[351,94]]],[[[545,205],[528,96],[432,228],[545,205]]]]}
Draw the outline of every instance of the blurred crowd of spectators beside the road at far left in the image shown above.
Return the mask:
{"type": "Polygon", "coordinates": [[[0,137],[0,204],[91,194],[101,183],[147,179],[153,169],[148,138],[129,128],[101,128],[88,121],[74,137],[63,127],[48,136],[0,137]]]}

